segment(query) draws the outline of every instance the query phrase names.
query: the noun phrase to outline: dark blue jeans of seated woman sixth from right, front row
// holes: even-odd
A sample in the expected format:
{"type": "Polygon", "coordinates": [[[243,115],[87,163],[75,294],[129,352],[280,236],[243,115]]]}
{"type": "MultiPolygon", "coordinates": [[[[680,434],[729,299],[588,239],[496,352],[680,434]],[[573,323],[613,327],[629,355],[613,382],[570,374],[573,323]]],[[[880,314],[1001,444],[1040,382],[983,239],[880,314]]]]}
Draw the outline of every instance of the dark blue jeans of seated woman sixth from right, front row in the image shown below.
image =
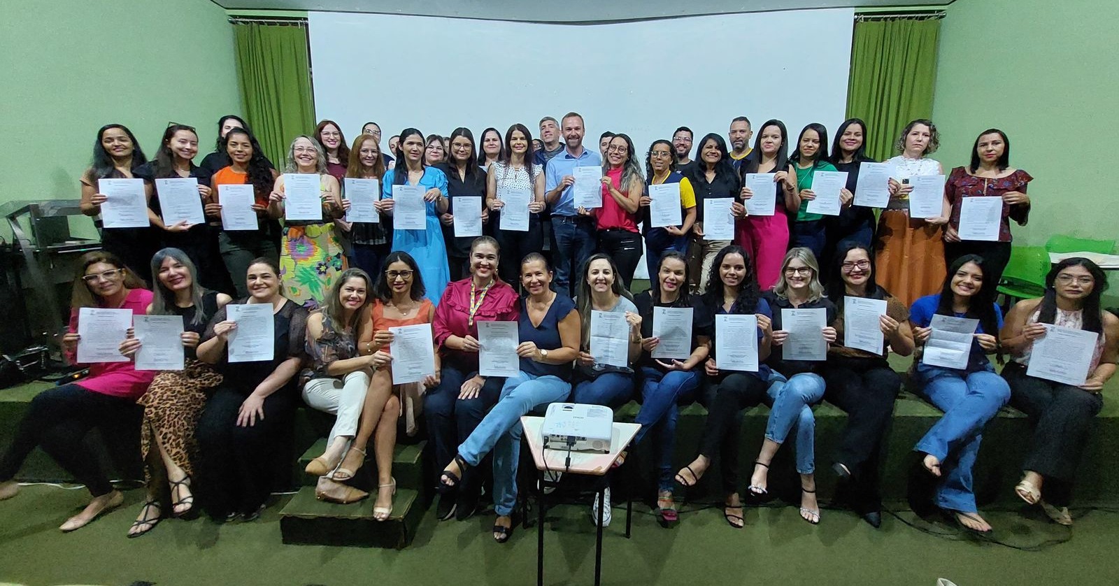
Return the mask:
{"type": "Polygon", "coordinates": [[[658,490],[673,490],[673,447],[676,445],[676,419],[680,415],[676,406],[690,403],[697,387],[699,372],[694,370],[662,372],[641,367],[641,409],[633,419],[633,423],[641,424],[641,429],[633,444],[637,445],[646,433],[652,432],[653,454],[660,471],[658,490]]]}

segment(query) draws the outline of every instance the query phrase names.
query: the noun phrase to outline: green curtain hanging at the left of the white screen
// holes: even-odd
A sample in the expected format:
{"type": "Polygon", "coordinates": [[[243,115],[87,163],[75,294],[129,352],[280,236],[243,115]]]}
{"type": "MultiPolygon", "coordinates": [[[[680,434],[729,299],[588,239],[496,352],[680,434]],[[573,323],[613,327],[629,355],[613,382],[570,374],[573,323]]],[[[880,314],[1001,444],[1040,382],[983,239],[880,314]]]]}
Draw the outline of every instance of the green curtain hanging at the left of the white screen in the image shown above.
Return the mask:
{"type": "Polygon", "coordinates": [[[282,168],[291,140],[314,130],[307,27],[237,23],[233,31],[245,120],[282,168]]]}

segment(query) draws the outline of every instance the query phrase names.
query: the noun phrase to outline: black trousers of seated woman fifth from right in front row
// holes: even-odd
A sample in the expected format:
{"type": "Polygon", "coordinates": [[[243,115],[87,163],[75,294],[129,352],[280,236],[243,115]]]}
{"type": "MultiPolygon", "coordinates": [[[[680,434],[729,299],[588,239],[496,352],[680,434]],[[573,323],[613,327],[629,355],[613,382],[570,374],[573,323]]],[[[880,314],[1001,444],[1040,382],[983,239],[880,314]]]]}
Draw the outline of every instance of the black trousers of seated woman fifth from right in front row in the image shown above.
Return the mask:
{"type": "Polygon", "coordinates": [[[699,437],[699,455],[708,460],[720,459],[723,490],[730,494],[739,491],[742,412],[762,403],[769,384],[752,372],[732,372],[708,385],[716,387],[715,398],[708,407],[707,424],[699,437]]]}

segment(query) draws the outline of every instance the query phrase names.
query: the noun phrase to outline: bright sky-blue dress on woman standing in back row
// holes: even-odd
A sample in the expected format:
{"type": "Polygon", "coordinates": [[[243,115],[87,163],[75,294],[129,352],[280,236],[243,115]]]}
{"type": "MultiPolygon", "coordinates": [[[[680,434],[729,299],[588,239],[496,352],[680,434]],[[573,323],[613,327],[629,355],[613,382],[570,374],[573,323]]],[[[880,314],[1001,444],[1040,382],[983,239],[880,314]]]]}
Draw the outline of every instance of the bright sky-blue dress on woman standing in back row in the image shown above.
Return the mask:
{"type": "MultiPolygon", "coordinates": [[[[384,199],[393,199],[395,177],[396,169],[389,169],[385,173],[380,182],[384,199]]],[[[425,190],[439,189],[443,197],[446,197],[446,174],[434,167],[424,168],[419,185],[423,186],[425,190]]],[[[393,230],[393,251],[408,253],[415,258],[416,264],[420,265],[420,275],[423,276],[424,289],[427,290],[427,299],[439,305],[443,290],[451,281],[451,270],[446,265],[446,245],[443,243],[443,228],[439,224],[439,211],[435,209],[435,202],[426,201],[424,206],[427,210],[427,229],[393,230]]]]}

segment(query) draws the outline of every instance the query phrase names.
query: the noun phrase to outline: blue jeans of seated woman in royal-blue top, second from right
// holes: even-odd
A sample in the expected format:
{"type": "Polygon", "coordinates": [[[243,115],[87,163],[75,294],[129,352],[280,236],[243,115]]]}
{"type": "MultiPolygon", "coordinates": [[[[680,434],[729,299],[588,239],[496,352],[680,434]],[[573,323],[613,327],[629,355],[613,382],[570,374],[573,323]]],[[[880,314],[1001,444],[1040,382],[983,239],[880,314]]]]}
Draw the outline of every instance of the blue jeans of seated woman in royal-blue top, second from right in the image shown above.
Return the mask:
{"type": "Polygon", "coordinates": [[[989,363],[972,372],[923,366],[913,378],[920,394],[944,412],[913,448],[940,460],[937,504],[951,511],[977,512],[971,469],[982,428],[1010,400],[1010,387],[989,363]]]}

